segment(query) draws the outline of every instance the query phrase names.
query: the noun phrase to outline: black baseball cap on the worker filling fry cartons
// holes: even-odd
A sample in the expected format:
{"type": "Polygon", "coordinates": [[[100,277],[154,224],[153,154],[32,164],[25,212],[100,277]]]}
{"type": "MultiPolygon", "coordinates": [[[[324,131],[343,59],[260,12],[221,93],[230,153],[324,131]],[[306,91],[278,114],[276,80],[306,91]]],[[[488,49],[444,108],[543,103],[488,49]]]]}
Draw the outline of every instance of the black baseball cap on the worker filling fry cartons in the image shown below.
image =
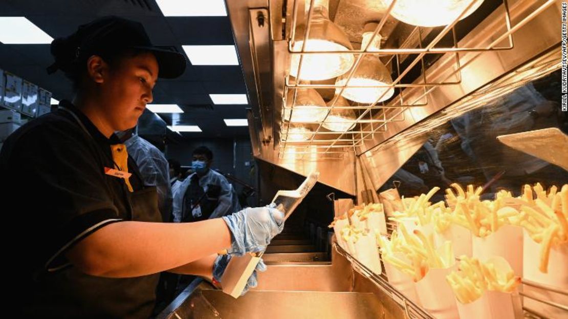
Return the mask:
{"type": "Polygon", "coordinates": [[[55,56],[55,63],[47,68],[47,72],[51,74],[58,69],[65,71],[65,65],[72,63],[72,60],[120,49],[152,52],[158,62],[158,77],[176,78],[185,72],[185,56],[154,47],[141,23],[119,16],[105,16],[82,24],[72,35],[53,40],[51,52],[55,56]],[[68,52],[58,54],[62,51],[61,47],[68,52]]]}

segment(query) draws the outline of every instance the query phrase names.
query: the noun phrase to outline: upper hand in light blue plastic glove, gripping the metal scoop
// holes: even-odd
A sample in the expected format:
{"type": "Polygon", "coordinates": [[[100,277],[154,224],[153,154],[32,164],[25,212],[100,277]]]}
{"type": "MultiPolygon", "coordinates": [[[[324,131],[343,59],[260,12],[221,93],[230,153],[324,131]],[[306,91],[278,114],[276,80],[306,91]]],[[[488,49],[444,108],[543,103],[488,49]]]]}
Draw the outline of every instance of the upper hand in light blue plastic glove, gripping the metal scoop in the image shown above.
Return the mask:
{"type": "Polygon", "coordinates": [[[232,233],[228,253],[238,256],[265,250],[272,238],[284,228],[284,213],[269,206],[245,208],[224,216],[223,220],[232,233]]]}

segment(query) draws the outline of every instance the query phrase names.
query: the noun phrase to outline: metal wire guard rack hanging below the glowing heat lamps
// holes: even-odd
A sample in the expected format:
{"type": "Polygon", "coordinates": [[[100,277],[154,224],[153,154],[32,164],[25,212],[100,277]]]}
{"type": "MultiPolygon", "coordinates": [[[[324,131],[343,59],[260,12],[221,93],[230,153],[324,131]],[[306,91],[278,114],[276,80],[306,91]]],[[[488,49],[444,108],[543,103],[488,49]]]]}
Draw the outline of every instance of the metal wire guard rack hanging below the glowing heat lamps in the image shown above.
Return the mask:
{"type": "MultiPolygon", "coordinates": [[[[387,131],[388,123],[391,122],[401,122],[405,121],[405,114],[404,111],[410,109],[411,107],[421,107],[428,104],[428,94],[431,93],[433,90],[440,86],[445,85],[456,85],[461,83],[461,70],[469,65],[472,61],[474,61],[479,55],[483,52],[487,51],[501,51],[501,50],[508,50],[514,47],[513,44],[513,37],[512,34],[519,28],[523,27],[525,24],[530,22],[534,19],[538,14],[542,13],[542,11],[546,10],[548,7],[552,6],[555,0],[548,0],[542,3],[536,10],[534,10],[531,14],[520,20],[515,26],[511,24],[511,13],[509,11],[509,5],[507,0],[503,0],[503,9],[504,9],[504,24],[506,27],[506,31],[498,36],[493,42],[486,45],[485,47],[458,47],[458,42],[456,39],[456,30],[454,27],[459,22],[459,20],[464,16],[471,7],[473,7],[475,1],[472,1],[462,13],[453,20],[452,23],[448,24],[447,26],[443,27],[442,30],[435,36],[434,39],[431,40],[427,45],[423,47],[423,36],[420,27],[415,27],[414,31],[411,32],[411,35],[408,36],[408,39],[412,38],[412,36],[417,36],[419,38],[419,47],[418,48],[385,48],[385,49],[373,49],[370,51],[370,43],[373,43],[375,37],[380,34],[382,28],[385,26],[385,23],[391,16],[391,11],[394,8],[397,0],[391,2],[389,7],[386,10],[383,19],[378,23],[378,26],[375,28],[369,43],[365,47],[362,47],[360,50],[348,50],[348,51],[306,51],[306,42],[303,41],[302,48],[300,51],[293,50],[293,43],[295,39],[295,29],[298,25],[298,10],[299,10],[299,2],[298,0],[294,1],[294,11],[293,11],[293,20],[291,22],[291,32],[288,38],[288,51],[290,55],[300,55],[299,58],[299,65],[298,65],[298,73],[296,74],[298,78],[300,78],[300,74],[302,72],[302,63],[305,55],[312,55],[312,54],[340,54],[340,53],[352,53],[356,55],[356,59],[354,61],[353,67],[348,71],[348,77],[346,78],[344,85],[328,85],[328,84],[302,84],[299,81],[291,80],[291,77],[287,75],[285,77],[285,88],[282,97],[282,121],[281,121],[281,134],[280,134],[280,143],[278,144],[278,154],[280,158],[285,158],[287,153],[293,154],[294,160],[321,160],[321,159],[334,159],[334,158],[341,158],[342,154],[345,152],[355,152],[356,147],[361,146],[362,142],[365,140],[372,139],[374,134],[378,132],[387,131]],[[453,43],[450,47],[437,47],[436,45],[441,42],[442,39],[449,32],[452,32],[451,38],[453,43]],[[504,47],[498,47],[497,45],[504,40],[508,40],[508,45],[504,47]],[[476,56],[472,59],[467,61],[465,64],[460,64],[460,52],[478,52],[476,56]],[[429,82],[427,78],[427,70],[425,67],[424,57],[431,54],[443,54],[443,53],[450,53],[455,58],[455,66],[453,67],[453,72],[451,72],[444,80],[437,81],[437,82],[429,82]],[[361,59],[364,55],[375,55],[375,56],[386,56],[389,57],[387,63],[385,65],[391,65],[393,69],[396,69],[396,74],[398,76],[392,81],[392,85],[377,85],[377,86],[356,86],[356,85],[349,85],[353,74],[356,72],[357,68],[360,66],[361,59]],[[406,55],[417,55],[414,60],[410,64],[408,64],[404,69],[401,71],[401,60],[402,56],[406,55]],[[421,74],[419,80],[414,81],[412,83],[403,83],[402,80],[404,76],[406,76],[409,72],[412,71],[416,65],[419,65],[421,69],[421,74]],[[373,103],[370,105],[354,105],[354,106],[336,106],[337,96],[341,96],[347,88],[395,88],[398,89],[398,96],[392,98],[392,100],[388,103],[385,102],[378,102],[381,101],[383,96],[387,93],[387,90],[383,92],[381,96],[377,98],[373,103]],[[405,95],[405,89],[407,88],[419,88],[421,92],[420,96],[414,98],[412,101],[408,101],[405,95]],[[296,105],[296,97],[298,94],[298,89],[339,89],[339,93],[336,92],[336,97],[333,98],[332,103],[330,106],[325,107],[327,110],[327,114],[325,118],[321,122],[296,122],[296,123],[303,123],[303,124],[311,124],[317,125],[317,129],[310,133],[310,138],[306,141],[293,141],[288,138],[290,132],[290,119],[294,112],[294,107],[296,105]],[[289,102],[291,100],[291,102],[289,102]],[[290,105],[290,106],[289,106],[290,105]],[[352,109],[357,110],[360,114],[358,117],[353,121],[354,123],[354,130],[346,129],[344,131],[325,131],[322,130],[323,124],[326,122],[329,114],[332,110],[341,110],[341,109],[352,109]],[[287,118],[284,117],[285,111],[289,110],[289,115],[287,118]],[[373,114],[375,111],[375,114],[373,114]],[[335,136],[334,136],[335,135],[335,136]],[[323,136],[331,136],[332,138],[323,138],[323,136]],[[317,137],[317,138],[316,138],[317,137]],[[290,150],[291,149],[291,150],[290,150]],[[300,155],[300,156],[298,156],[300,155]]],[[[306,22],[306,30],[304,31],[303,39],[309,39],[308,35],[310,34],[310,27],[311,27],[311,20],[314,15],[314,3],[315,0],[310,1],[310,7],[307,14],[307,22],[306,22]]],[[[307,5],[307,2],[306,2],[307,5]]],[[[404,47],[404,44],[401,45],[404,47]]],[[[314,107],[316,108],[316,107],[314,107]]]]}

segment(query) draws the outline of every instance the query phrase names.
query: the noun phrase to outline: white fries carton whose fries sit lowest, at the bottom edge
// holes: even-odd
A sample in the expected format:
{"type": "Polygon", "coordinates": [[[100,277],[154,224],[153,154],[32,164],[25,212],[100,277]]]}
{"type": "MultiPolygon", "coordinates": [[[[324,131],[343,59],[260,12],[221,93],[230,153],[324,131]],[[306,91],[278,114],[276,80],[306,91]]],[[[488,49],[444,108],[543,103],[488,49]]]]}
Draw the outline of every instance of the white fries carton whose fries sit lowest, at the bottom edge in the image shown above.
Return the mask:
{"type": "Polygon", "coordinates": [[[523,317],[517,297],[521,279],[505,259],[460,259],[458,270],[446,276],[458,301],[460,319],[523,317]]]}

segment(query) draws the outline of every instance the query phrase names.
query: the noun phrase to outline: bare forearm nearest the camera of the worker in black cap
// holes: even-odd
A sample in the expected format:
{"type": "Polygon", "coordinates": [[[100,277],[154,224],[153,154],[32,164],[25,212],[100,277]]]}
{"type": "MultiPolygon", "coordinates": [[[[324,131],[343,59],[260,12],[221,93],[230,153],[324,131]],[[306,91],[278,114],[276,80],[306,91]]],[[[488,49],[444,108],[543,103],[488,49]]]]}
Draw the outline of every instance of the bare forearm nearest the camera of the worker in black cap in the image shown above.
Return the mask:
{"type": "Polygon", "coordinates": [[[67,254],[87,274],[135,277],[170,270],[231,246],[223,219],[194,223],[112,223],[67,254]]]}

